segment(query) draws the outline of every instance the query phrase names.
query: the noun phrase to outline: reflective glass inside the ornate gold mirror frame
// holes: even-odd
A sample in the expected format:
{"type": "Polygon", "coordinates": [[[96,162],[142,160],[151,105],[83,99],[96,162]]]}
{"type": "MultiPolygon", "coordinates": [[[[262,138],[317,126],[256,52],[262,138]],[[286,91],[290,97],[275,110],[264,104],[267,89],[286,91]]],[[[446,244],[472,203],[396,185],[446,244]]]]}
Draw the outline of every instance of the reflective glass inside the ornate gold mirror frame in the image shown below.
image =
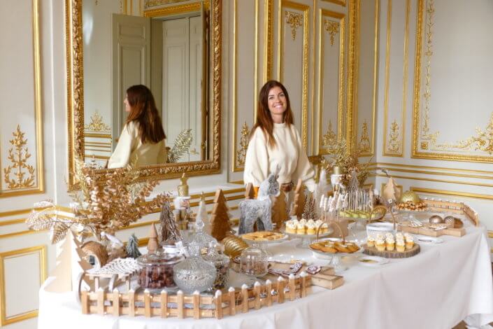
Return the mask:
{"type": "Polygon", "coordinates": [[[83,1],[85,162],[106,168],[119,142],[117,153],[129,148],[138,165],[210,160],[208,1],[174,12],[142,3],[128,13],[120,0],[83,1]],[[132,85],[150,89],[166,134],[145,155],[136,151],[140,139],[122,135],[132,85]],[[165,157],[155,154],[162,148],[165,157]]]}

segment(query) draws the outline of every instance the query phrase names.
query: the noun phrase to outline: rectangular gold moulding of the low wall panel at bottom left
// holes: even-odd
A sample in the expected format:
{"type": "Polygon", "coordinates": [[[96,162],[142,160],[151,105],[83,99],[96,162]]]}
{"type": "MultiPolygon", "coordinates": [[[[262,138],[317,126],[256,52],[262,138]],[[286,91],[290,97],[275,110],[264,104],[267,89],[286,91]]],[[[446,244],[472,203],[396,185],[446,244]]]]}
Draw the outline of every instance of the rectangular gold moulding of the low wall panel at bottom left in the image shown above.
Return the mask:
{"type": "Polygon", "coordinates": [[[29,248],[22,248],[13,251],[6,251],[0,253],[0,327],[3,325],[9,325],[12,323],[27,320],[28,318],[35,318],[38,316],[38,309],[25,311],[21,314],[15,314],[11,316],[6,315],[6,276],[5,276],[5,260],[10,258],[17,258],[31,254],[39,255],[39,286],[48,278],[48,267],[46,263],[46,245],[33,246],[29,248]]]}

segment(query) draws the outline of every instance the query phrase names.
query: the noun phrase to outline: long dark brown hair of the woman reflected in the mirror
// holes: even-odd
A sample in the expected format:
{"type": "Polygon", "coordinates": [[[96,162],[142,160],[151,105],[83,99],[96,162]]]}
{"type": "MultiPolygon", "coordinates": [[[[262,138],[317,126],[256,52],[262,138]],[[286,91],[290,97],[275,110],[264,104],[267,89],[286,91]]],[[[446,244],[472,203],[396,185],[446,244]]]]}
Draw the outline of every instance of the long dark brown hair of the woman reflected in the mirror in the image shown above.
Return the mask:
{"type": "Polygon", "coordinates": [[[148,87],[132,85],[127,89],[127,101],[131,111],[125,125],[132,121],[138,123],[138,137],[142,143],[158,143],[166,138],[156,102],[148,87]]]}

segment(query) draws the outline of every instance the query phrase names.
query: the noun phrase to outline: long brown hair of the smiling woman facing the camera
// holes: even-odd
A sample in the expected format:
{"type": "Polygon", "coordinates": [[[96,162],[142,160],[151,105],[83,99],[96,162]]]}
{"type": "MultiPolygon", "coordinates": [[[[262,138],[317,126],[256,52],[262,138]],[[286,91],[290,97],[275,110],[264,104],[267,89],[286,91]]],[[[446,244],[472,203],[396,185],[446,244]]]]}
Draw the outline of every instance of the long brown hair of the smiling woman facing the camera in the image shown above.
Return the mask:
{"type": "Polygon", "coordinates": [[[287,94],[286,87],[276,80],[269,80],[265,83],[259,92],[259,103],[257,105],[257,122],[253,125],[252,131],[250,132],[250,139],[253,137],[253,133],[260,127],[262,132],[267,137],[267,142],[269,146],[276,146],[276,139],[274,139],[274,121],[272,120],[271,111],[269,111],[269,91],[273,87],[280,87],[286,96],[286,111],[283,113],[283,122],[289,127],[293,124],[293,113],[291,111],[290,96],[287,94]]]}

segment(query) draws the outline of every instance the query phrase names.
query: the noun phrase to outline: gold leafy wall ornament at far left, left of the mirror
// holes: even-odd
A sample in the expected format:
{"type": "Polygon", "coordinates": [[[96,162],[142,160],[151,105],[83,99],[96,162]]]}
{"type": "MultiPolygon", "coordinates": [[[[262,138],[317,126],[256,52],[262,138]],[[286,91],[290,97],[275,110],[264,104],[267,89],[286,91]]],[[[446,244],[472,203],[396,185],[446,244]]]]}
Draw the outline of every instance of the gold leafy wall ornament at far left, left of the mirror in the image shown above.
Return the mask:
{"type": "Polygon", "coordinates": [[[5,175],[4,181],[7,183],[8,190],[19,188],[30,188],[34,186],[34,167],[27,164],[27,160],[31,158],[31,153],[27,149],[27,139],[24,138],[24,132],[17,125],[17,130],[12,133],[14,139],[10,139],[10,145],[13,147],[8,150],[7,159],[12,162],[6,168],[3,168],[5,175]],[[10,179],[12,170],[15,170],[15,179],[10,179]],[[27,178],[24,176],[28,174],[27,178]]]}

